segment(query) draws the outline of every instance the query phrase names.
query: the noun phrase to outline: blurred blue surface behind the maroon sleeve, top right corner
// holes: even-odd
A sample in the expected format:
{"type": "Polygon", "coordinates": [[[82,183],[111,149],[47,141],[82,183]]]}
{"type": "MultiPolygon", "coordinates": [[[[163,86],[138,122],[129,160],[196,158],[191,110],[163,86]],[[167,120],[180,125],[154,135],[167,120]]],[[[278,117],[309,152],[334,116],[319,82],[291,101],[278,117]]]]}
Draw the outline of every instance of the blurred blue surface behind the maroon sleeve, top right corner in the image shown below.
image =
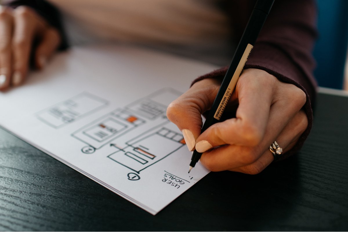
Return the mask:
{"type": "Polygon", "coordinates": [[[319,37],[314,49],[319,86],[348,90],[348,1],[317,0],[319,37]]]}

